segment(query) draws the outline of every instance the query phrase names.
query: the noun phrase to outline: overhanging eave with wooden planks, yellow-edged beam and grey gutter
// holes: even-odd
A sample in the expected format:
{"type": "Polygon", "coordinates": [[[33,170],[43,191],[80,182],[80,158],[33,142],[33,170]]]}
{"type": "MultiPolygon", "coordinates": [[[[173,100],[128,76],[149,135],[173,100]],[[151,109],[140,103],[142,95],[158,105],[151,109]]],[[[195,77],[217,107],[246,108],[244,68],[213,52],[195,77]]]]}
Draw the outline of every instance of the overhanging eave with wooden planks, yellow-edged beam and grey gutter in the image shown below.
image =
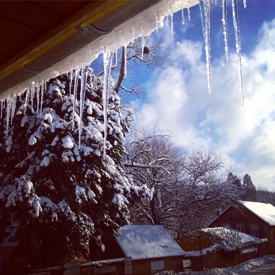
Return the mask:
{"type": "Polygon", "coordinates": [[[0,94],[157,2],[1,1],[0,94]]]}

